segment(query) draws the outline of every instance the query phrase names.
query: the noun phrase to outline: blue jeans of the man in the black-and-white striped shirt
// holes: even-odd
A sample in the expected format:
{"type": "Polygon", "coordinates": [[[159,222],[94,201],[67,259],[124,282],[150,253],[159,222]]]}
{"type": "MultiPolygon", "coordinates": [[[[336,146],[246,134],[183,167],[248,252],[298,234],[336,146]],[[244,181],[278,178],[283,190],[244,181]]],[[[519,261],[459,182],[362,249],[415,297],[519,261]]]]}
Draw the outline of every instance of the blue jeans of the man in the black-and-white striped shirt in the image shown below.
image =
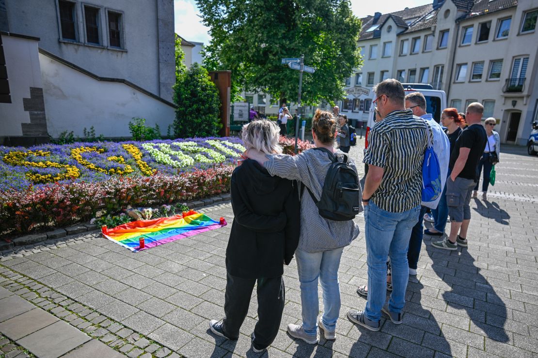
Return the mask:
{"type": "Polygon", "coordinates": [[[368,302],[364,313],[370,320],[381,319],[387,290],[387,257],[392,265],[392,293],[388,301],[391,312],[401,312],[409,279],[407,248],[411,230],[419,220],[420,206],[391,213],[380,209],[373,201],[364,207],[366,263],[368,265],[368,302]]]}

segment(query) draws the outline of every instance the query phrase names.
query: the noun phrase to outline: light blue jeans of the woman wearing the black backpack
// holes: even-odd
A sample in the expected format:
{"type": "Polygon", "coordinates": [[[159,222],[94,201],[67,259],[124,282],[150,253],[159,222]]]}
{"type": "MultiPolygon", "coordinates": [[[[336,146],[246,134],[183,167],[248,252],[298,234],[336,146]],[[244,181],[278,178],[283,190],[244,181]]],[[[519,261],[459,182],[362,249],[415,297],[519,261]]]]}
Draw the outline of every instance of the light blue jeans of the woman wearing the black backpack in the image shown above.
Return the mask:
{"type": "Polygon", "coordinates": [[[338,267],[343,251],[343,247],[321,252],[295,251],[301,283],[303,330],[307,334],[317,334],[317,315],[320,312],[317,298],[318,277],[323,289],[323,324],[329,331],[336,328],[336,320],[340,313],[338,267]]]}

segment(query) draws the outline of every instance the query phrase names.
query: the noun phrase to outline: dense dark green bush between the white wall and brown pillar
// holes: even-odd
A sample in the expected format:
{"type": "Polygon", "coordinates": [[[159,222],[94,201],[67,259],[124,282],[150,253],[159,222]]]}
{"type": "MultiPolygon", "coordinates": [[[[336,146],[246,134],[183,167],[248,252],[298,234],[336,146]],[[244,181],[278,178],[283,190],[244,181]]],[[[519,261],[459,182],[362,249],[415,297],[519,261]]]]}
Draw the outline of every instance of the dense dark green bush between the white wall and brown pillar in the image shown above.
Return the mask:
{"type": "Polygon", "coordinates": [[[180,72],[174,85],[174,135],[177,138],[215,136],[222,124],[217,86],[205,68],[194,63],[180,72]]]}

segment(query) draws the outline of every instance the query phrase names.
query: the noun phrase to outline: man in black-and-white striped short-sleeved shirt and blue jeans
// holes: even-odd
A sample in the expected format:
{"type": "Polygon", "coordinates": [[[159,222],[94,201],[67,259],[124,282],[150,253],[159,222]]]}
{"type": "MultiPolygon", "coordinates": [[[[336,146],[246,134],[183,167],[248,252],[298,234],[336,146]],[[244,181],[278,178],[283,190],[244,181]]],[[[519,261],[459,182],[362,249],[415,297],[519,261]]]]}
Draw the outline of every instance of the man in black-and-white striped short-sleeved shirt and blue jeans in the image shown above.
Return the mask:
{"type": "Polygon", "coordinates": [[[407,247],[420,213],[422,162],[433,133],[423,119],[405,109],[404,87],[395,79],[374,86],[373,101],[381,120],[370,131],[363,162],[369,165],[363,190],[368,302],[364,311],[349,310],[348,318],[379,331],[381,310],[401,323],[409,278],[407,247]],[[384,306],[387,257],[392,264],[393,291],[384,306]]]}

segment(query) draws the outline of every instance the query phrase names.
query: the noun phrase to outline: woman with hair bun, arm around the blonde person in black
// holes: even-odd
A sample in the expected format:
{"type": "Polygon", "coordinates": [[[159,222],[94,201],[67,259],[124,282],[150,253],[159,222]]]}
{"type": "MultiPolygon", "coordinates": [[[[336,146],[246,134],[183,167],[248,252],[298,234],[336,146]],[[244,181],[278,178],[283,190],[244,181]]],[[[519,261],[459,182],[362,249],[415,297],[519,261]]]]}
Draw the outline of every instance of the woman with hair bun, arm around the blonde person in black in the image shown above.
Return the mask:
{"type": "MultiPolygon", "coordinates": [[[[334,114],[317,109],[312,119],[312,136],[318,148],[324,148],[342,162],[346,156],[334,148],[338,122],[334,114]]],[[[262,164],[272,175],[299,180],[316,198],[321,197],[325,176],[332,160],[321,150],[306,150],[295,156],[264,154],[250,149],[247,156],[262,164]]],[[[350,166],[357,171],[353,160],[350,166]]],[[[362,204],[357,203],[363,211],[362,204]]],[[[359,227],[352,220],[332,221],[320,216],[314,200],[307,191],[301,194],[301,233],[295,251],[299,282],[301,284],[302,324],[288,325],[293,338],[308,344],[317,344],[317,327],[325,339],[335,339],[336,320],[340,312],[338,267],[345,246],[359,235],[359,227]],[[323,289],[324,313],[319,312],[318,278],[323,289]]]]}

